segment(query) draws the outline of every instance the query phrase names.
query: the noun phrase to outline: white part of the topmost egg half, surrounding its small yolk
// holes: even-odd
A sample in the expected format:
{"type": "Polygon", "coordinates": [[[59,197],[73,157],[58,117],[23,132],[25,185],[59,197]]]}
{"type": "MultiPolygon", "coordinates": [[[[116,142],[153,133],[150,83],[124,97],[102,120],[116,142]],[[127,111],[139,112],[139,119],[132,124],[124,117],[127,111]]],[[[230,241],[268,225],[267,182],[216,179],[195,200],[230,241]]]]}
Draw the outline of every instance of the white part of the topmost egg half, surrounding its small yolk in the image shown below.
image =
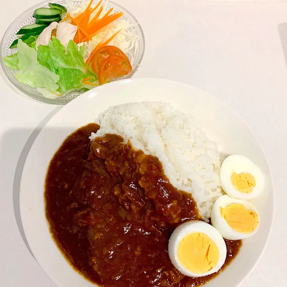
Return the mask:
{"type": "Polygon", "coordinates": [[[254,162],[243,155],[230,155],[226,158],[220,169],[220,181],[223,190],[231,197],[239,199],[252,199],[259,196],[265,187],[265,180],[262,171],[254,162]],[[242,193],[238,191],[231,182],[233,172],[237,174],[241,172],[250,173],[254,176],[256,186],[250,193],[242,193]]]}

